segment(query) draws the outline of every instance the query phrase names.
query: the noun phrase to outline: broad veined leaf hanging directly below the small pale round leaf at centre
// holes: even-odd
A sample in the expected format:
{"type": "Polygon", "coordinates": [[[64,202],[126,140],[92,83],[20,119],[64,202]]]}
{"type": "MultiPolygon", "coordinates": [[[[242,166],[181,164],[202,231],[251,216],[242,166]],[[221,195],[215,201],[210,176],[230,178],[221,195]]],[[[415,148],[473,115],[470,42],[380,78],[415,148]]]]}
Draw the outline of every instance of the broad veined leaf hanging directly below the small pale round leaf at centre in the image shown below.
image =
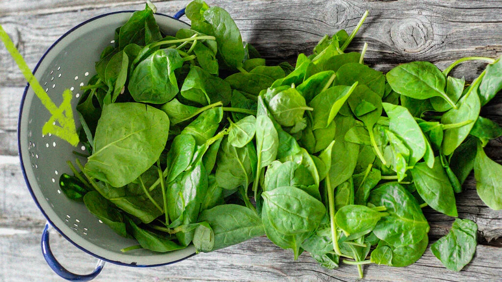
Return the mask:
{"type": "Polygon", "coordinates": [[[256,175],[257,155],[253,142],[242,148],[233,147],[223,138],[218,151],[216,182],[224,189],[247,188],[256,175]]]}

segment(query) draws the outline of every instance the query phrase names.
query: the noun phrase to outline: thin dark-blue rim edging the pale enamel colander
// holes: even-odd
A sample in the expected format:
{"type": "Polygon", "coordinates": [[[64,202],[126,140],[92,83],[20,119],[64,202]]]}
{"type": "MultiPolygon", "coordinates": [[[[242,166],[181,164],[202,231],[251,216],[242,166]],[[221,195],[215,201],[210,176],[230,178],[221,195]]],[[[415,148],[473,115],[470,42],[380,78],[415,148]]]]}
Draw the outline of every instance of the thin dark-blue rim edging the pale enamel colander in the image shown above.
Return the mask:
{"type": "MultiPolygon", "coordinates": [[[[102,17],[106,17],[106,16],[109,16],[109,15],[114,15],[114,14],[121,14],[121,13],[134,13],[136,11],[117,11],[117,12],[111,12],[111,13],[106,13],[106,14],[102,14],[102,15],[99,15],[99,16],[96,16],[94,18],[91,18],[91,19],[88,19],[80,24],[78,24],[77,26],[73,27],[71,30],[67,31],[65,34],[63,34],[60,38],[58,38],[58,40],[56,40],[50,47],[49,49],[47,49],[47,51],[45,51],[44,55],[42,56],[42,58],[40,58],[40,60],[38,61],[37,65],[35,66],[35,68],[33,69],[33,73],[36,73],[38,67],[40,66],[40,63],[42,63],[42,61],[44,60],[45,56],[47,55],[47,53],[49,53],[49,51],[52,50],[52,48],[58,44],[63,38],[65,38],[66,36],[68,36],[70,33],[72,33],[74,30],[80,28],[81,26],[89,23],[89,22],[92,22],[92,21],[95,21],[99,18],[102,18],[102,17]]],[[[161,14],[161,13],[155,13],[156,15],[159,15],[159,16],[164,16],[164,17],[168,17],[168,18],[171,18],[171,19],[174,19],[174,20],[177,20],[177,21],[180,21],[184,24],[187,24],[185,23],[184,21],[181,21],[179,18],[181,18],[184,14],[185,14],[185,9],[182,9],[180,10],[179,12],[177,12],[174,17],[171,17],[171,16],[168,16],[168,15],[165,15],[165,14],[161,14]]],[[[187,24],[188,25],[188,24],[187,24]]],[[[169,264],[173,264],[173,263],[176,263],[176,262],[180,262],[182,260],[185,260],[189,257],[192,257],[194,256],[196,253],[193,253],[193,254],[190,254],[184,258],[181,258],[181,259],[178,259],[178,260],[175,260],[175,261],[170,261],[170,262],[166,262],[166,263],[159,263],[159,264],[136,264],[136,263],[124,263],[124,262],[121,262],[121,261],[116,261],[116,260],[111,260],[111,259],[108,259],[108,258],[104,258],[104,257],[101,257],[87,249],[85,249],[84,247],[80,246],[79,244],[75,243],[74,241],[72,241],[66,234],[64,234],[61,229],[59,229],[52,221],[51,219],[47,216],[47,214],[45,213],[44,209],[42,208],[42,206],[40,206],[40,203],[38,202],[37,198],[35,197],[35,194],[33,193],[33,189],[30,185],[30,181],[28,180],[28,177],[26,176],[26,170],[25,170],[25,166],[24,166],[24,162],[23,162],[23,156],[22,156],[22,153],[21,153],[21,137],[20,137],[20,132],[21,132],[21,114],[23,112],[23,108],[24,108],[24,104],[25,104],[25,99],[26,99],[26,95],[28,93],[28,89],[30,88],[30,83],[27,83],[26,84],[26,87],[25,87],[25,91],[23,92],[23,97],[21,98],[21,105],[19,107],[19,117],[18,117],[18,152],[19,152],[19,158],[21,160],[21,171],[23,172],[23,177],[25,179],[25,182],[26,182],[26,185],[28,186],[28,190],[30,191],[30,194],[33,198],[33,200],[35,201],[35,204],[37,205],[37,207],[39,208],[39,210],[42,212],[42,214],[44,215],[44,217],[47,219],[47,221],[51,224],[51,226],[56,229],[59,234],[61,234],[66,240],[68,240],[70,243],[72,243],[73,245],[75,245],[77,248],[79,248],[80,250],[96,257],[96,258],[99,258],[99,259],[102,259],[104,261],[107,261],[107,262],[111,262],[111,263],[114,263],[114,264],[118,264],[118,265],[124,265],[124,266],[133,266],[133,267],[155,267],[155,266],[162,266],[162,265],[169,265],[169,264]]]]}

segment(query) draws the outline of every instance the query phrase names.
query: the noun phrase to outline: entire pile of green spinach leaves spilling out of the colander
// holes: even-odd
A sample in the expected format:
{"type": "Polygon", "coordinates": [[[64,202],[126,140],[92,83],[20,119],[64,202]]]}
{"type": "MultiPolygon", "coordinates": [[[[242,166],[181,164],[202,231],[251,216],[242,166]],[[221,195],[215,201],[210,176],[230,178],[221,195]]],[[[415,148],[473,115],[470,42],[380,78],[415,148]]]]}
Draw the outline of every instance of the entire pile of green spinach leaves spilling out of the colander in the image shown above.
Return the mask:
{"type": "MultiPolygon", "coordinates": [[[[457,217],[472,170],[480,198],[502,209],[502,166],[483,147],[502,129],[479,116],[502,89],[502,63],[463,58],[441,72],[412,62],[386,75],[325,36],[296,66],[267,66],[230,15],[190,3],[191,29],[165,36],[150,3],[115,30],[77,110],[88,153],[62,191],[124,237],[167,252],[212,251],[266,234],[295,259],[406,266],[428,245],[422,208],[457,217]],[[449,76],[490,64],[471,84],[449,76]],[[250,199],[251,198],[251,199],[250,199]],[[254,202],[252,200],[254,199],[254,202]]],[[[366,47],[366,46],[365,46],[366,47]]],[[[457,219],[432,246],[450,269],[475,251],[457,219]]]]}

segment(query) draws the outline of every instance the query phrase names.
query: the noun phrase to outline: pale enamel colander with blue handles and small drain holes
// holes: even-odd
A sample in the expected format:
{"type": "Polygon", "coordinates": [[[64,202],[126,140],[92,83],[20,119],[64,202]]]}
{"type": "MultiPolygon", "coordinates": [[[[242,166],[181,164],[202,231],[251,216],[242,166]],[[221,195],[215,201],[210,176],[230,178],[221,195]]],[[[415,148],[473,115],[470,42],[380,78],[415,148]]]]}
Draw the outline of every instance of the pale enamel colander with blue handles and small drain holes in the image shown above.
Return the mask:
{"type": "MultiPolygon", "coordinates": [[[[73,91],[72,107],[76,114],[75,107],[82,95],[80,86],[95,74],[94,62],[101,51],[113,43],[115,29],[126,23],[133,12],[115,12],[87,20],[64,34],[42,56],[34,74],[56,105],[62,102],[62,93],[69,88],[73,91]]],[[[174,17],[155,14],[155,19],[164,34],[175,35],[179,29],[190,27],[179,20],[183,15],[184,9],[174,17]]],[[[48,221],[42,234],[42,252],[58,275],[68,280],[88,281],[99,274],[105,261],[126,266],[159,266],[195,254],[193,246],[168,253],[144,249],[122,253],[121,248],[137,242],[120,237],[93,216],[85,205],[67,199],[59,190],[60,175],[71,173],[66,161],[75,160],[72,151],[85,148],[81,144],[72,147],[51,134],[43,135],[42,127],[49,118],[49,111],[27,85],[18,121],[19,155],[28,189],[48,221]],[[99,259],[92,273],[74,274],[55,259],[49,245],[51,226],[75,246],[99,259]]]]}

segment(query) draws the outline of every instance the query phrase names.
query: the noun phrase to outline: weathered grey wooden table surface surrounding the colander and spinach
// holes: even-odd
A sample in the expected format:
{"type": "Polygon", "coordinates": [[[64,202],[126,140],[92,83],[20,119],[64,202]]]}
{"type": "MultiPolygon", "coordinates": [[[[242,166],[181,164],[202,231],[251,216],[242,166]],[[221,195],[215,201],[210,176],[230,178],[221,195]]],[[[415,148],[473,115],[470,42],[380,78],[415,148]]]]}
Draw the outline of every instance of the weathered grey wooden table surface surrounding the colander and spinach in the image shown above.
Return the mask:
{"type": "MultiPolygon", "coordinates": [[[[172,15],[188,1],[156,2],[158,11],[172,15]]],[[[349,32],[365,10],[369,16],[349,49],[369,44],[366,62],[387,71],[398,63],[429,60],[440,68],[466,56],[496,58],[502,54],[502,0],[492,1],[210,1],[226,9],[244,40],[253,43],[266,58],[293,61],[309,53],[325,34],[346,28],[349,32]]],[[[120,10],[141,10],[143,1],[114,0],[0,0],[0,24],[13,38],[33,68],[44,51],[63,33],[91,17],[120,10]]],[[[457,77],[472,80],[482,63],[466,63],[455,69],[457,77]]],[[[26,82],[3,45],[0,45],[0,281],[62,280],[45,263],[40,235],[45,219],[35,206],[24,182],[17,157],[16,126],[19,103],[26,82]]],[[[481,115],[502,123],[502,99],[495,98],[481,115]]],[[[499,140],[487,154],[501,162],[499,140]]],[[[364,266],[368,281],[500,281],[502,280],[502,212],[492,211],[479,199],[469,177],[457,195],[460,218],[479,226],[479,245],[472,262],[453,272],[427,250],[409,267],[364,266]]],[[[453,218],[425,209],[431,241],[446,234],[453,218]]],[[[52,236],[55,255],[65,266],[85,273],[94,258],[64,238],[52,236]]],[[[98,281],[353,281],[355,267],[327,270],[308,255],[293,261],[289,251],[266,237],[199,254],[183,262],[156,268],[107,264],[98,281]]]]}

